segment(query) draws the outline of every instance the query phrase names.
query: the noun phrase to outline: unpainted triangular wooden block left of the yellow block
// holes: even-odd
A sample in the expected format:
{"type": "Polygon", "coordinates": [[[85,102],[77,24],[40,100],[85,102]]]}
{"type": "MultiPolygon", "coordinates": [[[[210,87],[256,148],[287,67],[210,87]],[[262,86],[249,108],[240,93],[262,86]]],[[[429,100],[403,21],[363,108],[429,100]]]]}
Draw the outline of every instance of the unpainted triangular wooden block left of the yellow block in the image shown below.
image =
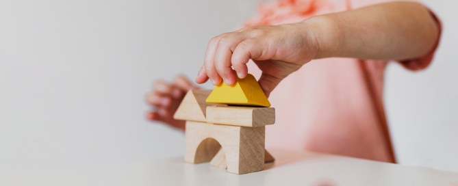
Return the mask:
{"type": "Polygon", "coordinates": [[[190,90],[184,96],[183,101],[179,105],[173,118],[175,120],[190,120],[198,122],[206,122],[205,112],[209,104],[205,102],[205,98],[210,94],[211,90],[190,90]]]}

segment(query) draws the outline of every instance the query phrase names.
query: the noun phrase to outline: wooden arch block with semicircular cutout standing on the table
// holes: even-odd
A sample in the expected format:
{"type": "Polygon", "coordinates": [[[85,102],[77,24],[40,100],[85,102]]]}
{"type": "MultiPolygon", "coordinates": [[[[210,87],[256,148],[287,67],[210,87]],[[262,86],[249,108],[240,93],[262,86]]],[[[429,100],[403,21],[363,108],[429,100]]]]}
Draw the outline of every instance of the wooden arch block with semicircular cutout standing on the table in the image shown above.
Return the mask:
{"type": "Polygon", "coordinates": [[[204,122],[186,122],[185,161],[210,161],[218,152],[225,154],[227,171],[234,174],[256,172],[264,168],[265,127],[239,127],[204,122]],[[207,140],[210,140],[208,142],[207,140]],[[216,150],[216,151],[215,151],[216,150]]]}

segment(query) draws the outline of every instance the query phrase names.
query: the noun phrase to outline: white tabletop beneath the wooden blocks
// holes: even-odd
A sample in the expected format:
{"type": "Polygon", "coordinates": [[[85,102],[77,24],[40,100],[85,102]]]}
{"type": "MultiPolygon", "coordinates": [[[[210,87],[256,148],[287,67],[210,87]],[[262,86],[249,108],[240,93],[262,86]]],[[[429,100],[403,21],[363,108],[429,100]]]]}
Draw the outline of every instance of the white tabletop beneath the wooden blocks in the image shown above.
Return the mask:
{"type": "Polygon", "coordinates": [[[414,168],[316,152],[272,150],[275,163],[250,174],[231,174],[183,157],[115,165],[3,170],[0,185],[446,185],[458,173],[414,168]]]}

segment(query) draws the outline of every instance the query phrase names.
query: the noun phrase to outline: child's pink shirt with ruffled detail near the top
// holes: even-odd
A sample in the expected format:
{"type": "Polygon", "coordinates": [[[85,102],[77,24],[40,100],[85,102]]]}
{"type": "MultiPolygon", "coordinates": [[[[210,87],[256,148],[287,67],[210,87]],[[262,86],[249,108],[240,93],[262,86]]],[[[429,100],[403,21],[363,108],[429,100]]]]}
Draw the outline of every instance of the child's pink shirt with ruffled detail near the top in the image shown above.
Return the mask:
{"type": "MultiPolygon", "coordinates": [[[[280,0],[260,5],[260,15],[246,25],[296,23],[317,14],[382,2],[386,1],[280,0]]],[[[429,65],[434,51],[398,63],[409,70],[420,70],[429,65]]],[[[266,146],[395,162],[382,100],[387,64],[351,58],[318,59],[305,64],[270,94],[277,119],[266,127],[266,146]]],[[[250,72],[260,75],[253,63],[250,72]]]]}

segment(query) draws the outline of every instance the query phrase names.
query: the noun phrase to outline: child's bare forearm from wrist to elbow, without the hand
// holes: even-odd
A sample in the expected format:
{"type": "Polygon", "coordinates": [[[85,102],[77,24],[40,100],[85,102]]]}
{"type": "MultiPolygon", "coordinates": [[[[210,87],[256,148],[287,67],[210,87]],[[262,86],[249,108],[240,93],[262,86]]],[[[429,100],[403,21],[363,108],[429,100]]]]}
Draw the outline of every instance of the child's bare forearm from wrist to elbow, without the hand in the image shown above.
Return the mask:
{"type": "Polygon", "coordinates": [[[303,21],[318,42],[315,58],[409,59],[429,52],[438,27],[418,3],[394,2],[303,21]]]}

